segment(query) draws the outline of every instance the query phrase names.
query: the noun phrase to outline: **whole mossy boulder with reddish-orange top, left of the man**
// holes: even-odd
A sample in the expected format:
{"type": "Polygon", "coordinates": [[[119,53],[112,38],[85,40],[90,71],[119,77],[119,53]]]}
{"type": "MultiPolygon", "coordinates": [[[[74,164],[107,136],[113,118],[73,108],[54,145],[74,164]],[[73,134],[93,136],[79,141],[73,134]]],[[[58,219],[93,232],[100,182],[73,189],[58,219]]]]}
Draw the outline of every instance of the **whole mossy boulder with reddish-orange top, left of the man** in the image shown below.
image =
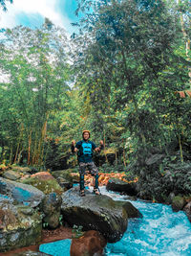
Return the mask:
{"type": "Polygon", "coordinates": [[[31,175],[24,179],[22,183],[32,185],[46,195],[53,192],[58,195],[63,193],[63,189],[60,187],[53,175],[48,172],[39,172],[35,175],[31,175]]]}

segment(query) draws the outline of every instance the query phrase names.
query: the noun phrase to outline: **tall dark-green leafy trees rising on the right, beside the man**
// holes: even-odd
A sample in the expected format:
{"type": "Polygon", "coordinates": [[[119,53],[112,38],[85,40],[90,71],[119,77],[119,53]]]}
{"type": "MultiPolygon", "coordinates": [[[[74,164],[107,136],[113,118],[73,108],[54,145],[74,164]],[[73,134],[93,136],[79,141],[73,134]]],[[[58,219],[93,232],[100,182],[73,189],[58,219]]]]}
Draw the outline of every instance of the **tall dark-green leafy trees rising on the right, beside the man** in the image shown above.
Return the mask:
{"type": "Polygon", "coordinates": [[[78,2],[76,12],[86,17],[79,24],[82,34],[74,36],[74,69],[86,124],[96,136],[104,131],[106,145],[117,148],[117,160],[138,176],[140,196],[161,201],[173,189],[162,185],[165,164],[148,166],[145,159],[155,153],[173,157],[175,142],[177,161],[183,162],[191,148],[191,101],[175,95],[190,89],[180,26],[186,2],[179,8],[169,1],[78,2]]]}

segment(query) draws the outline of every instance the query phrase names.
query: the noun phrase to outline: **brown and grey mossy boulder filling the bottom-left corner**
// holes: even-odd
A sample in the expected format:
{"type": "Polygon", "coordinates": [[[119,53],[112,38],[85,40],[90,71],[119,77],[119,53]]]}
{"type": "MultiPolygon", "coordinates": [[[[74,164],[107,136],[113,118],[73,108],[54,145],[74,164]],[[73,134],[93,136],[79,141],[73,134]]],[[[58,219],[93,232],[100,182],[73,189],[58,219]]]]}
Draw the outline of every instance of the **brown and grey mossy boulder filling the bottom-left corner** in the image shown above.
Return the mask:
{"type": "Polygon", "coordinates": [[[40,242],[41,231],[41,217],[32,207],[0,201],[0,252],[40,242]]]}

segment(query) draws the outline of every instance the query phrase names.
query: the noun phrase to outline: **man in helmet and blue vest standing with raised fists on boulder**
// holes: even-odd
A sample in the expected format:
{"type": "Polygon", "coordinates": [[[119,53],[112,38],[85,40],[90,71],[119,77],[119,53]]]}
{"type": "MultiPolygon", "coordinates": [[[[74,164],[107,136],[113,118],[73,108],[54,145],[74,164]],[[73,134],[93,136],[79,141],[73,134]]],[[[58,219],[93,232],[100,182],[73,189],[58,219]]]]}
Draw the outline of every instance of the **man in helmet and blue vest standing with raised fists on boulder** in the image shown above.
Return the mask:
{"type": "Polygon", "coordinates": [[[95,176],[95,186],[94,193],[100,195],[98,190],[98,169],[96,164],[93,161],[93,151],[101,151],[103,149],[103,141],[100,141],[100,146],[97,148],[96,144],[93,141],[90,141],[90,131],[83,130],[82,132],[83,140],[78,141],[75,144],[75,141],[72,142],[72,151],[77,152],[77,160],[79,164],[79,175],[80,175],[80,196],[84,197],[84,175],[86,169],[88,169],[91,175],[95,176]]]}

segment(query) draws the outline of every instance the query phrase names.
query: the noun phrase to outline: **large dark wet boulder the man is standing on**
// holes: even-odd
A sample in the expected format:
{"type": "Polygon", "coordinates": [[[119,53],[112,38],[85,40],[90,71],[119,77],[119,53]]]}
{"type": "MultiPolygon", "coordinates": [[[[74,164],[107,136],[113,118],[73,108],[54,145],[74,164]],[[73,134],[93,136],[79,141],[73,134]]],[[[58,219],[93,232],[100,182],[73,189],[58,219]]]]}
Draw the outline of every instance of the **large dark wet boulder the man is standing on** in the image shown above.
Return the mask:
{"type": "Polygon", "coordinates": [[[76,187],[63,193],[61,213],[71,226],[97,230],[110,243],[117,242],[127,228],[127,213],[115,200],[89,191],[81,198],[76,187]]]}

